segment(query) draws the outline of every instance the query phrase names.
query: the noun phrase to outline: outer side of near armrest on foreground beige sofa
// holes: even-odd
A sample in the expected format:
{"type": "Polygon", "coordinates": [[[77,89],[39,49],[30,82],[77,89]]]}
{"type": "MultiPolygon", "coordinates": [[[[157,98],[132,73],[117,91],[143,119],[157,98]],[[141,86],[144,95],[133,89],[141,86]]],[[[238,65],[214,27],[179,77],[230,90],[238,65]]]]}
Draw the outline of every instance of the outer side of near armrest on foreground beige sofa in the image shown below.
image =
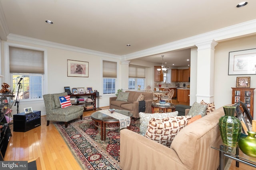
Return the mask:
{"type": "Polygon", "coordinates": [[[120,131],[120,167],[122,170],[187,170],[176,152],[128,129],[120,131]]]}

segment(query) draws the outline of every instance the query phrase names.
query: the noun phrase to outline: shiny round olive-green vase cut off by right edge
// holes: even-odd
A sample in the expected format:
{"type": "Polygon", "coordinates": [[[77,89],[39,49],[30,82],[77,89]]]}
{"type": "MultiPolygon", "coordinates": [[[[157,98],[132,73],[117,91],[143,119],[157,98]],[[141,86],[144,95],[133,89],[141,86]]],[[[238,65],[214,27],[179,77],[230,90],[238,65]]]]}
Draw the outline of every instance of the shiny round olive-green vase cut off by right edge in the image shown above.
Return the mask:
{"type": "Polygon", "coordinates": [[[247,137],[240,137],[238,146],[244,154],[256,158],[256,132],[247,131],[247,133],[247,137]]]}

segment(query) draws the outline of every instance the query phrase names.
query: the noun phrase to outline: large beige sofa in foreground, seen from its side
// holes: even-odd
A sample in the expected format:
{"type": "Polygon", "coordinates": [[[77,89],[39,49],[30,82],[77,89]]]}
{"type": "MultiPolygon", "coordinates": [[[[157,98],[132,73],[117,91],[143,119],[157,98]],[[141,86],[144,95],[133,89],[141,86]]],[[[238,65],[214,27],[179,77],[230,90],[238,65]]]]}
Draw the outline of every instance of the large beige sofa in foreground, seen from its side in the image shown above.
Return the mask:
{"type": "Polygon", "coordinates": [[[184,127],[168,148],[128,129],[120,131],[122,170],[217,170],[221,143],[218,120],[223,108],[184,127]]]}

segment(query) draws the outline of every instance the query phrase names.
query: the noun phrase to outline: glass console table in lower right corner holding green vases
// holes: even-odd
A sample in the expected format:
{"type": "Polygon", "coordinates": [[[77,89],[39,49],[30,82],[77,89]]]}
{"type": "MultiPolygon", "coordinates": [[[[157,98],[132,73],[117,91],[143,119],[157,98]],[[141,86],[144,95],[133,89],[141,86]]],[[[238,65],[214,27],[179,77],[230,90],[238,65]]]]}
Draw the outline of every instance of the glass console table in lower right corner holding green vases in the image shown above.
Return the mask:
{"type": "Polygon", "coordinates": [[[236,167],[239,167],[239,162],[243,164],[247,164],[256,168],[256,158],[247,156],[244,154],[239,147],[228,147],[224,144],[221,145],[213,145],[211,148],[220,151],[220,168],[219,170],[224,170],[225,168],[225,160],[228,159],[236,160],[236,167]]]}

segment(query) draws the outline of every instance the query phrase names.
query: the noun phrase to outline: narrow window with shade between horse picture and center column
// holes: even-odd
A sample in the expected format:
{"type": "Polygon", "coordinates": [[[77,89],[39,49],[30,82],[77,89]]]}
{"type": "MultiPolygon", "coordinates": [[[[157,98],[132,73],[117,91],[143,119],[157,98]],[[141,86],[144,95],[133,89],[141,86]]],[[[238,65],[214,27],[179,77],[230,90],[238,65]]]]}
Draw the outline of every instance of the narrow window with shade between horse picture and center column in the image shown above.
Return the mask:
{"type": "Polygon", "coordinates": [[[103,61],[103,94],[116,93],[117,63],[103,61]]]}

